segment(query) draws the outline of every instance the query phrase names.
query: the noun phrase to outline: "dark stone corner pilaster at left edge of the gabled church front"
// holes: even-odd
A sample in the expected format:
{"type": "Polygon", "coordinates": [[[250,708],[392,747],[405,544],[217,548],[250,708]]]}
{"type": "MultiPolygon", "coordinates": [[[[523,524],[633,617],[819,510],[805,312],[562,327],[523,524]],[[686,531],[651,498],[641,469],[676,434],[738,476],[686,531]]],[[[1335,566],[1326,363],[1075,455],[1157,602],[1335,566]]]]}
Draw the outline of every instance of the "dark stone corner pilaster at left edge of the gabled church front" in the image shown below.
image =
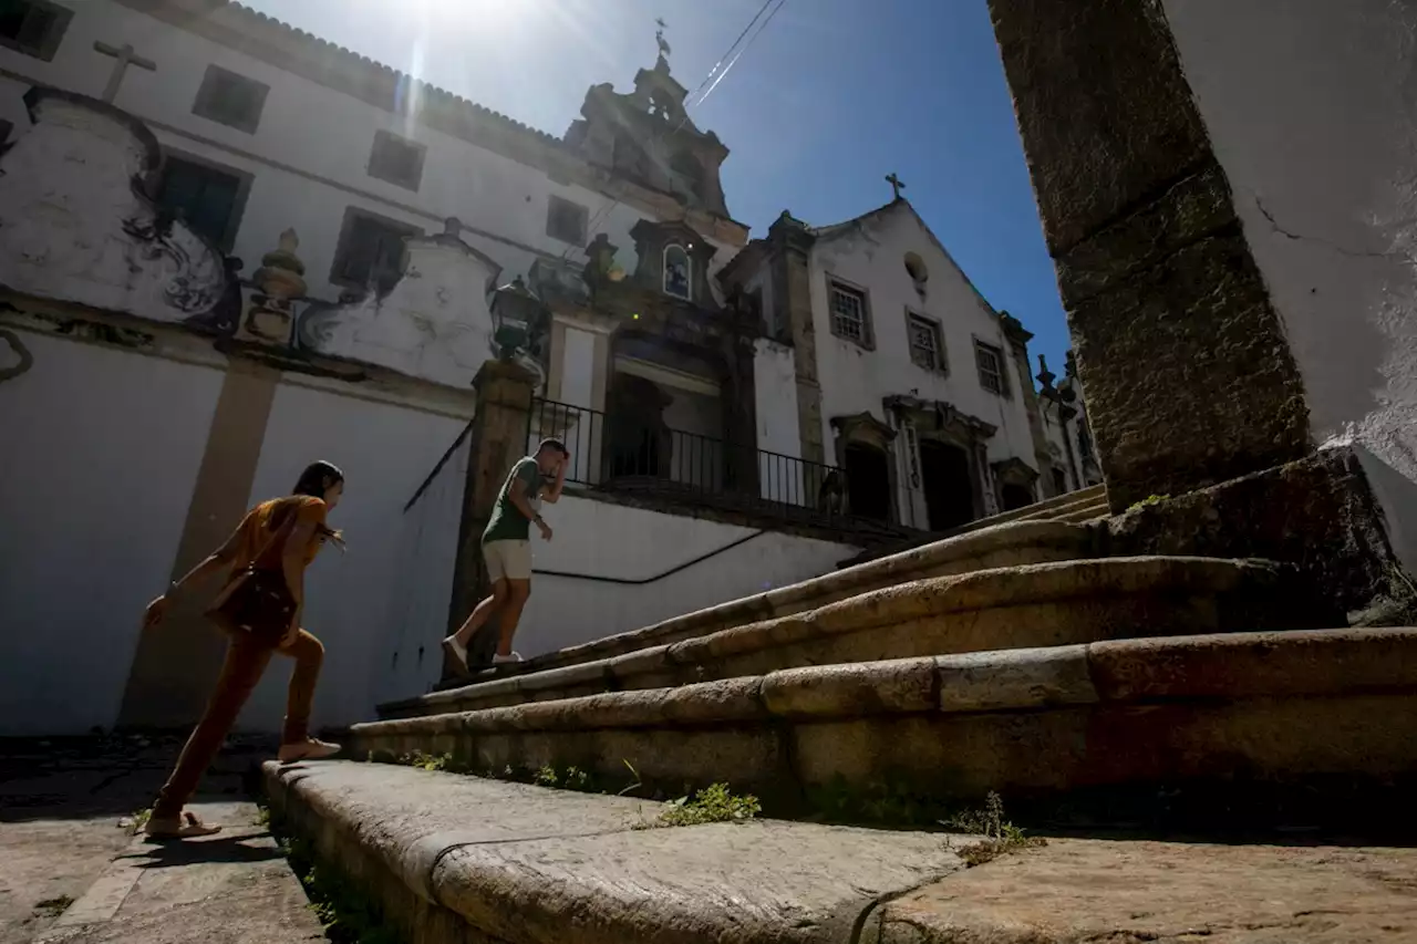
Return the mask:
{"type": "Polygon", "coordinates": [[[822,442],[822,384],[816,373],[816,327],[812,322],[812,234],[805,223],[794,220],[784,210],[768,227],[768,245],[772,305],[778,310],[778,323],[788,325],[792,332],[802,458],[808,462],[826,462],[822,442]]]}

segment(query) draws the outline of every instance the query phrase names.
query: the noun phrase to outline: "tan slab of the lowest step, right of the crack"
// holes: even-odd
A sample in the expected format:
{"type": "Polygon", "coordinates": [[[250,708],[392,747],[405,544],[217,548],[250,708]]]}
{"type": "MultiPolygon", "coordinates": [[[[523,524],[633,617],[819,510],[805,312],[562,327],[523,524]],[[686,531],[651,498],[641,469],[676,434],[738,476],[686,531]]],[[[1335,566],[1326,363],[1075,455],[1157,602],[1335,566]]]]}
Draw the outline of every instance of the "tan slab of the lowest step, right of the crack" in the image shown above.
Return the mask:
{"type": "Polygon", "coordinates": [[[1406,944],[1417,849],[1051,841],[877,909],[862,944],[1406,944]]]}

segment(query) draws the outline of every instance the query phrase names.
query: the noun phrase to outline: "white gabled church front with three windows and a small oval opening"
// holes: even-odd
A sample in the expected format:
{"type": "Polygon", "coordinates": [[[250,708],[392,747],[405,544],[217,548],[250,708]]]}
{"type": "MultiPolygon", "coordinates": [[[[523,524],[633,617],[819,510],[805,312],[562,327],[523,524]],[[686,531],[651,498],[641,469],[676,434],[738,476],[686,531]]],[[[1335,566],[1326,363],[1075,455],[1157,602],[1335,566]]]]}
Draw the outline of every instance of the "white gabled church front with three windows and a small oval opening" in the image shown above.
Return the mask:
{"type": "Polygon", "coordinates": [[[881,400],[890,394],[941,400],[962,412],[995,424],[989,461],[1019,456],[1030,466],[1033,439],[1022,384],[998,318],[973,291],[908,210],[888,211],[864,224],[864,234],[822,240],[812,251],[812,318],[816,329],[818,377],[822,384],[823,442],[833,442],[830,418],[869,411],[886,420],[881,400]],[[928,269],[921,298],[905,271],[905,254],[920,255],[928,269]],[[832,333],[828,278],[867,292],[874,350],[832,333]],[[934,319],[944,336],[948,374],[917,367],[910,359],[905,312],[934,319]],[[975,339],[1003,353],[1010,397],[979,386],[975,339]]]}

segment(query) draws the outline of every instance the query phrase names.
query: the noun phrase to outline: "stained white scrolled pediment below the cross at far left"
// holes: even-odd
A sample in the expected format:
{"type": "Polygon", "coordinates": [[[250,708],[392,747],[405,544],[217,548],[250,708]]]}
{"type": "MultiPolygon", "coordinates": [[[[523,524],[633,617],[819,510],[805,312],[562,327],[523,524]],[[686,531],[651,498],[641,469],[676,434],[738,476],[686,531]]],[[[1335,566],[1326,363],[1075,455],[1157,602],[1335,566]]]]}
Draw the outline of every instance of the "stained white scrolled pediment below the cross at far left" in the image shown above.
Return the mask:
{"type": "Polygon", "coordinates": [[[34,126],[0,156],[0,283],[156,322],[222,299],[221,252],[147,197],[162,152],[132,115],[33,88],[34,126]]]}

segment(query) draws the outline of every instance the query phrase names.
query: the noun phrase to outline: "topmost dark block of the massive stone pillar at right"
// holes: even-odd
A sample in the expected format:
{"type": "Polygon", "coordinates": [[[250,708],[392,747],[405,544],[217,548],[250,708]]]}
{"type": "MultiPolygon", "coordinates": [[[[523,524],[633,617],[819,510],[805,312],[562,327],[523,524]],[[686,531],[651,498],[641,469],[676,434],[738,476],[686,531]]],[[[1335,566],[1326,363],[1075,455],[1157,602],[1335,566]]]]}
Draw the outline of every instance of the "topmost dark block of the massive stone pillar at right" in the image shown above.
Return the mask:
{"type": "Polygon", "coordinates": [[[1209,157],[1162,4],[990,0],[989,10],[1054,257],[1209,157]]]}

